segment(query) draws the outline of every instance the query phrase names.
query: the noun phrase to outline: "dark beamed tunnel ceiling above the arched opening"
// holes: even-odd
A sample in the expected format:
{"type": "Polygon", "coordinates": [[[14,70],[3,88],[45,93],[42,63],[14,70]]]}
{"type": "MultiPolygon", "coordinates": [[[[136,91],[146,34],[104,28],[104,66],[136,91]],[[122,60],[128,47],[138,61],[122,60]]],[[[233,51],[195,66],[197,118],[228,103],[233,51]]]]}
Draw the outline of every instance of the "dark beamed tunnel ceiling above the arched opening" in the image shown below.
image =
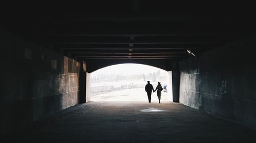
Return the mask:
{"type": "Polygon", "coordinates": [[[88,63],[89,72],[119,63],[169,66],[254,33],[242,5],[107,1],[16,6],[4,26],[31,41],[88,63]]]}

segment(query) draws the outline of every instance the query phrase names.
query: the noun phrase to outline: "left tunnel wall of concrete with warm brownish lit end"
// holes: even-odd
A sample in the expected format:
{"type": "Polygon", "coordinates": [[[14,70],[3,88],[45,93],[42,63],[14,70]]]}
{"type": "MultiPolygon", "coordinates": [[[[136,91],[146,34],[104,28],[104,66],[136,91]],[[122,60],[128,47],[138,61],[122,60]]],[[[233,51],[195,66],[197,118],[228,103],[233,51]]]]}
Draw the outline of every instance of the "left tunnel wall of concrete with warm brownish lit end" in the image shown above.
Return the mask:
{"type": "Polygon", "coordinates": [[[5,30],[0,40],[1,134],[77,104],[78,62],[5,30]]]}

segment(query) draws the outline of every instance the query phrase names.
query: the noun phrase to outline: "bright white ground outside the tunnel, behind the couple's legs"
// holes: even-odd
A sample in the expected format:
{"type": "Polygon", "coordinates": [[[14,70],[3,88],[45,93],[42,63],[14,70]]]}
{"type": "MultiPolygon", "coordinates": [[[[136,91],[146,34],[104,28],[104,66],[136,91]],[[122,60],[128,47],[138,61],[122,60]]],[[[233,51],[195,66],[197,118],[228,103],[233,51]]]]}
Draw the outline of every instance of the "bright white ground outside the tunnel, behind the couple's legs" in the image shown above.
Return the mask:
{"type": "MultiPolygon", "coordinates": [[[[170,101],[172,98],[171,93],[162,92],[161,101],[170,101]]],[[[152,102],[157,103],[157,93],[152,92],[152,102]]],[[[91,96],[91,101],[148,101],[147,94],[144,88],[140,89],[127,89],[103,94],[96,94],[91,96]]]]}

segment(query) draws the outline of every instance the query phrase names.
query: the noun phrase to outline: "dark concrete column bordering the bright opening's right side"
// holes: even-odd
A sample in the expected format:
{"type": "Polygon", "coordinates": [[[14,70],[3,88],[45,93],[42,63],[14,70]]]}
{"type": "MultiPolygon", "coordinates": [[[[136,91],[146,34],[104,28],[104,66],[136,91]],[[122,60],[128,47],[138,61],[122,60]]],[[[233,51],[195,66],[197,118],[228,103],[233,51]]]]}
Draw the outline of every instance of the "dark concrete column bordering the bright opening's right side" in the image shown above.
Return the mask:
{"type": "Polygon", "coordinates": [[[173,102],[180,102],[180,71],[179,63],[173,63],[172,70],[173,102]]]}

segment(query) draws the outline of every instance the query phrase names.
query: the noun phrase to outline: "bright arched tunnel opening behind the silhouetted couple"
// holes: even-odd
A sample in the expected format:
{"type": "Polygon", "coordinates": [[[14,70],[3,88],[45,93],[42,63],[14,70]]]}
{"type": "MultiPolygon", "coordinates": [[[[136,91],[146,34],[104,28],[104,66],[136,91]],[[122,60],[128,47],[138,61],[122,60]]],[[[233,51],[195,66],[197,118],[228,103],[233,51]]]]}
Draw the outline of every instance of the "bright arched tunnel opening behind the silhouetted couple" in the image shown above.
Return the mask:
{"type": "MultiPolygon", "coordinates": [[[[147,102],[147,81],[156,89],[161,83],[161,102],[172,101],[172,78],[169,72],[142,64],[117,64],[101,68],[90,75],[90,101],[147,102]]],[[[158,103],[157,92],[152,92],[152,103],[158,103]]]]}

